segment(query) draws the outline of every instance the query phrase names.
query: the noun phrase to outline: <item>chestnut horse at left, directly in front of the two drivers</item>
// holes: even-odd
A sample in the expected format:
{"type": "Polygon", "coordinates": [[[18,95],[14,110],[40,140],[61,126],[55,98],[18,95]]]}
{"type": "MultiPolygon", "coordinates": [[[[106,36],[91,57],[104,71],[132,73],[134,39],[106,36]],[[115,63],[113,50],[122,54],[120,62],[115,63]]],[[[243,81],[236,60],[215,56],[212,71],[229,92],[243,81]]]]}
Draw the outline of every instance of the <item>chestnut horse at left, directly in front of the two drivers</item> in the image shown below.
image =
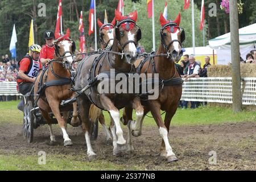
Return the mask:
{"type": "Polygon", "coordinates": [[[49,62],[49,67],[39,73],[35,82],[35,101],[39,106],[44,119],[49,126],[51,135],[51,143],[56,142],[52,131],[52,121],[49,112],[55,115],[57,122],[63,131],[64,146],[72,145],[71,139],[67,134],[67,120],[69,117],[69,109],[63,110],[63,116],[60,113],[60,102],[71,98],[71,72],[69,68],[73,63],[71,55],[75,52],[75,42],[69,38],[69,30],[67,34],[57,38],[54,42],[55,54],[53,60],[49,62]],[[63,58],[61,58],[63,57],[63,58]],[[41,87],[40,85],[44,85],[41,87]],[[39,94],[39,96],[38,96],[39,94]],[[39,98],[38,98],[39,97],[39,98]]]}

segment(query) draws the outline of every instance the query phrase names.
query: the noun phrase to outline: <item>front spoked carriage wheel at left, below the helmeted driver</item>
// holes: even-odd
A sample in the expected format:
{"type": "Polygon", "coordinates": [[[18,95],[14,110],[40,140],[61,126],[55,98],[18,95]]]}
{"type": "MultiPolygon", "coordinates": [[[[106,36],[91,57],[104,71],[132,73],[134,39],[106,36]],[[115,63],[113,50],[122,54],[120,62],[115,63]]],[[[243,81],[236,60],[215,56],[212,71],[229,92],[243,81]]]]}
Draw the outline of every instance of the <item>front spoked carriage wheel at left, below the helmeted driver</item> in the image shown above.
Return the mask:
{"type": "Polygon", "coordinates": [[[30,113],[30,110],[32,109],[32,102],[28,101],[27,107],[26,107],[26,130],[27,130],[27,142],[31,143],[33,140],[33,134],[34,134],[34,114],[30,113]]]}

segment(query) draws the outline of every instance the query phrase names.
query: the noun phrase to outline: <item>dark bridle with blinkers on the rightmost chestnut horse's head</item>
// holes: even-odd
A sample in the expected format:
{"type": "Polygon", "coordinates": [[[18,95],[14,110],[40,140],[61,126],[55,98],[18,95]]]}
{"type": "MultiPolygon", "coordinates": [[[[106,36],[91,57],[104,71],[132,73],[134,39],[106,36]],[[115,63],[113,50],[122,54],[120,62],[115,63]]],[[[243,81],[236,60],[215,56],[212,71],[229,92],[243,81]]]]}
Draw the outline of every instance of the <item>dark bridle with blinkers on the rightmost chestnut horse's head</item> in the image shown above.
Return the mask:
{"type": "Polygon", "coordinates": [[[170,48],[170,46],[171,46],[174,42],[178,42],[178,43],[180,44],[180,47],[182,48],[182,44],[181,44],[181,43],[185,40],[184,28],[177,26],[177,24],[174,23],[174,22],[170,22],[170,23],[165,24],[165,25],[160,29],[159,33],[160,33],[160,37],[161,37],[161,43],[162,43],[164,49],[166,49],[166,52],[167,52],[168,54],[170,54],[169,48],[170,48]],[[181,29],[181,41],[175,39],[175,40],[172,40],[172,41],[166,46],[166,44],[164,43],[164,38],[163,38],[163,30],[166,29],[166,27],[171,27],[171,28],[177,27],[177,28],[181,29]]]}

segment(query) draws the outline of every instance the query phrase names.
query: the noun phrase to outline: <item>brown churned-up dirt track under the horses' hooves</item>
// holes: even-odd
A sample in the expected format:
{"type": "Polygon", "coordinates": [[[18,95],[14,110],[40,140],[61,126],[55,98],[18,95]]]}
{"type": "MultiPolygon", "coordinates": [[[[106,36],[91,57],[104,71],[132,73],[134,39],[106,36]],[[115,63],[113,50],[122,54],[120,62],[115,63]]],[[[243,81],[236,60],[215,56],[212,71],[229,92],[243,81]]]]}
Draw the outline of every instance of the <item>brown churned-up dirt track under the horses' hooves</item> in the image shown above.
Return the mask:
{"type": "MultiPolygon", "coordinates": [[[[123,127],[125,138],[127,130],[123,127]]],[[[34,142],[28,144],[23,139],[22,125],[0,126],[1,155],[37,155],[46,151],[47,155],[80,156],[79,159],[89,161],[86,155],[85,138],[81,127],[68,125],[68,134],[73,141],[72,147],[63,146],[62,133],[59,126],[53,126],[58,144],[49,146],[48,126],[40,126],[34,130],[34,142]]],[[[145,170],[256,170],[256,123],[236,123],[208,126],[171,127],[170,143],[178,162],[167,163],[159,156],[160,135],[156,126],[143,128],[141,137],[133,137],[135,152],[122,156],[113,156],[111,142],[105,141],[105,134],[100,129],[98,139],[92,142],[97,154],[96,160],[105,160],[124,165],[130,169],[134,165],[145,170]],[[216,151],[217,164],[210,165],[208,155],[216,151]]]]}

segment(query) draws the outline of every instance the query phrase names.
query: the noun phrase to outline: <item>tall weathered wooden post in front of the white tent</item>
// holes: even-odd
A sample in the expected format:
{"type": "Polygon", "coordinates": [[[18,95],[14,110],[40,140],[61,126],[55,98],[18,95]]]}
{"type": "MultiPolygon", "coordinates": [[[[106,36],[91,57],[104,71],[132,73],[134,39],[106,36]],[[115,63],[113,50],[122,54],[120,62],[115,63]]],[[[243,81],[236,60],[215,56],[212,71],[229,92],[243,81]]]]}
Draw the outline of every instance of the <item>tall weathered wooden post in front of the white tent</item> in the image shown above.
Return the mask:
{"type": "Polygon", "coordinates": [[[233,112],[242,110],[241,96],[241,73],[240,73],[240,47],[239,47],[239,24],[237,0],[229,1],[230,9],[230,39],[231,39],[231,59],[232,59],[232,97],[233,112]]]}

